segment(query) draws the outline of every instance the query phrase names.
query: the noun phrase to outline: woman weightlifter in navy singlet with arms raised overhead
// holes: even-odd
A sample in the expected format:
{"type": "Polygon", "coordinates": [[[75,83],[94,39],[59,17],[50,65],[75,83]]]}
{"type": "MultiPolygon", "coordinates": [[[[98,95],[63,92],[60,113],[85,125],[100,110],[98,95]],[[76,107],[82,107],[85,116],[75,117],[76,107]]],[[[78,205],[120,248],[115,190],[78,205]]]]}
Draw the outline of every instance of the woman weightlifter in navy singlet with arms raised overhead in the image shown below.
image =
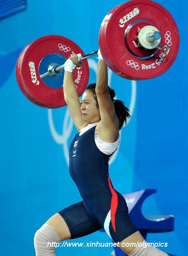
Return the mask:
{"type": "Polygon", "coordinates": [[[37,230],[36,256],[55,256],[55,247],[47,246],[48,242],[82,237],[101,228],[129,256],[167,256],[149,247],[130,220],[124,197],[111,183],[108,162],[117,150],[119,130],[129,117],[129,109],[114,100],[100,51],[98,59],[96,84],[86,88],[81,103],[72,75],[81,63],[77,55],[65,62],[64,98],[79,132],[70,144],[69,169],[83,200],[59,211],[37,230]]]}

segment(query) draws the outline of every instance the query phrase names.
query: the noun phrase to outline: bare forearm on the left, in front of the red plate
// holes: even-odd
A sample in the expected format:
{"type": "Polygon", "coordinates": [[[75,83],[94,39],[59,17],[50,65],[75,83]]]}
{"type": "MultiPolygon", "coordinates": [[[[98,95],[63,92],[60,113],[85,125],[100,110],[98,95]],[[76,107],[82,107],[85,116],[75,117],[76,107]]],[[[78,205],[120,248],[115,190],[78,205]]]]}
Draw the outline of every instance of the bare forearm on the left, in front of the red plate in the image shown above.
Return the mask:
{"type": "Polygon", "coordinates": [[[77,89],[74,84],[73,73],[65,71],[64,80],[63,80],[63,93],[65,102],[69,98],[79,98],[77,94],[77,89]]]}

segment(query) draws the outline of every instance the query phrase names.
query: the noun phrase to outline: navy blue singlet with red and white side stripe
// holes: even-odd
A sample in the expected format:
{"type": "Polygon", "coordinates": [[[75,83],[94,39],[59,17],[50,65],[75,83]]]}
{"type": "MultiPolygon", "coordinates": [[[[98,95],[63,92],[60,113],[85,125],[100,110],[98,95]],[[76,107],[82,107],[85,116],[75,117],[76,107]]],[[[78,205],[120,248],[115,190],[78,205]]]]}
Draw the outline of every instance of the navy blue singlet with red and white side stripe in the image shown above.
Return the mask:
{"type": "Polygon", "coordinates": [[[111,184],[108,161],[112,154],[104,154],[96,146],[95,128],[81,136],[77,133],[70,144],[70,176],[83,200],[59,214],[67,224],[71,238],[104,228],[114,242],[118,242],[137,229],[129,218],[124,197],[111,184]]]}

